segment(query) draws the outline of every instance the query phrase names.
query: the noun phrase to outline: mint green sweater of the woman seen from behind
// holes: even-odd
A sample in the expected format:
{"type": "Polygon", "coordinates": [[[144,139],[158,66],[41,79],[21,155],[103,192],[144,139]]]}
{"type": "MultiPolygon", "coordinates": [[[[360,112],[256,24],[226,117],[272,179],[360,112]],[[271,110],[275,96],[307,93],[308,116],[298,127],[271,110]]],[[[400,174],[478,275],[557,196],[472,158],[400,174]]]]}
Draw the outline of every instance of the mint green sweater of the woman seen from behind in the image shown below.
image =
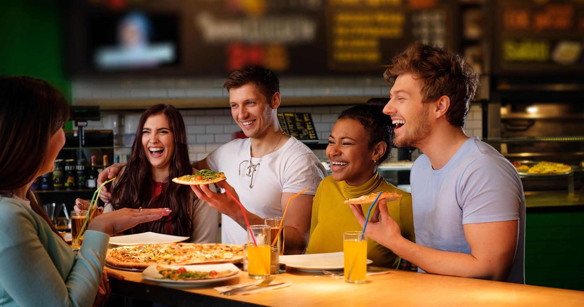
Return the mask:
{"type": "Polygon", "coordinates": [[[26,203],[0,196],[0,306],[92,306],[108,242],[86,231],[76,256],[26,203]]]}

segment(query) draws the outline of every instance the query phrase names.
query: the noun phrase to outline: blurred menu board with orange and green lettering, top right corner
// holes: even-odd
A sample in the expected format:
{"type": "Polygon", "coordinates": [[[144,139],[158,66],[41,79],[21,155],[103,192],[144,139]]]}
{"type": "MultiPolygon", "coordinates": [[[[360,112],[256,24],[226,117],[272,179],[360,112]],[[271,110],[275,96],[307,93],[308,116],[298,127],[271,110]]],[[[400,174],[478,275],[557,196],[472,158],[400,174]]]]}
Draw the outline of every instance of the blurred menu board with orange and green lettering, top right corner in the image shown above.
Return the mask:
{"type": "Polygon", "coordinates": [[[493,72],[584,72],[584,2],[496,0],[493,72]]]}

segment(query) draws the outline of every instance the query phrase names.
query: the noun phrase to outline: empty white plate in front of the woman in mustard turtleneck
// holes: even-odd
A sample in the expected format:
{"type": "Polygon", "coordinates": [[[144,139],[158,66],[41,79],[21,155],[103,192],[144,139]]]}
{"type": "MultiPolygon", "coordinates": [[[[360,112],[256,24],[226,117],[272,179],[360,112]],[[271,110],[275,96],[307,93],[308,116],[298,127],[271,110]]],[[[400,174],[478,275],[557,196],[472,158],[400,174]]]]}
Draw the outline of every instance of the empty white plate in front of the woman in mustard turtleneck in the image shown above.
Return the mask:
{"type": "MultiPolygon", "coordinates": [[[[319,272],[322,270],[342,270],[345,267],[343,255],[343,252],[286,255],[280,256],[280,263],[284,263],[286,266],[298,271],[319,272]]],[[[367,264],[370,263],[373,263],[373,260],[367,259],[367,264]]]]}

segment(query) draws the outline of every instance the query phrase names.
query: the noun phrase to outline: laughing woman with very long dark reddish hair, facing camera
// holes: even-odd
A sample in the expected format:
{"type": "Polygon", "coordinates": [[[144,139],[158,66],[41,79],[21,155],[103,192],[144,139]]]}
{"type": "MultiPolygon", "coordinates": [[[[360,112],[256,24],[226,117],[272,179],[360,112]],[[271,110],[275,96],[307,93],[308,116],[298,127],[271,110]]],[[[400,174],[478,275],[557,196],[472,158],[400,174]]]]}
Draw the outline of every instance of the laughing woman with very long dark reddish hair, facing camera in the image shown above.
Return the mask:
{"type": "Polygon", "coordinates": [[[197,171],[189,162],[182,115],[172,105],[153,105],[140,117],[128,164],[112,182],[111,203],[104,211],[169,207],[172,214],[168,217],[137,225],[126,233],[151,231],[190,237],[189,241],[195,243],[214,243],[219,225],[217,210],[194,195],[189,186],[170,182],[197,171]]]}

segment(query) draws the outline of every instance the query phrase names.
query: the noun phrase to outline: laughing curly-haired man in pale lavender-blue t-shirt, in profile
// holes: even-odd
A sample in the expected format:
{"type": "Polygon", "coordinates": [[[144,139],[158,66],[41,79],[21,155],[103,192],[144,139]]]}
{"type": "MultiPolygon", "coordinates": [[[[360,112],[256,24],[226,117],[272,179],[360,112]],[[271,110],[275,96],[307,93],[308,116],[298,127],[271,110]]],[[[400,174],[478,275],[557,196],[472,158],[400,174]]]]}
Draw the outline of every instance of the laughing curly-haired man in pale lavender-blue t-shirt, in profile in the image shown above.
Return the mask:
{"type": "MultiPolygon", "coordinates": [[[[420,272],[524,283],[521,180],[505,157],[463,130],[479,76],[460,56],[419,43],[392,62],[383,112],[396,125],[395,145],[424,153],[410,180],[416,243],[401,236],[385,201],[367,234],[420,272]]],[[[351,209],[363,225],[363,211],[351,209]]]]}

